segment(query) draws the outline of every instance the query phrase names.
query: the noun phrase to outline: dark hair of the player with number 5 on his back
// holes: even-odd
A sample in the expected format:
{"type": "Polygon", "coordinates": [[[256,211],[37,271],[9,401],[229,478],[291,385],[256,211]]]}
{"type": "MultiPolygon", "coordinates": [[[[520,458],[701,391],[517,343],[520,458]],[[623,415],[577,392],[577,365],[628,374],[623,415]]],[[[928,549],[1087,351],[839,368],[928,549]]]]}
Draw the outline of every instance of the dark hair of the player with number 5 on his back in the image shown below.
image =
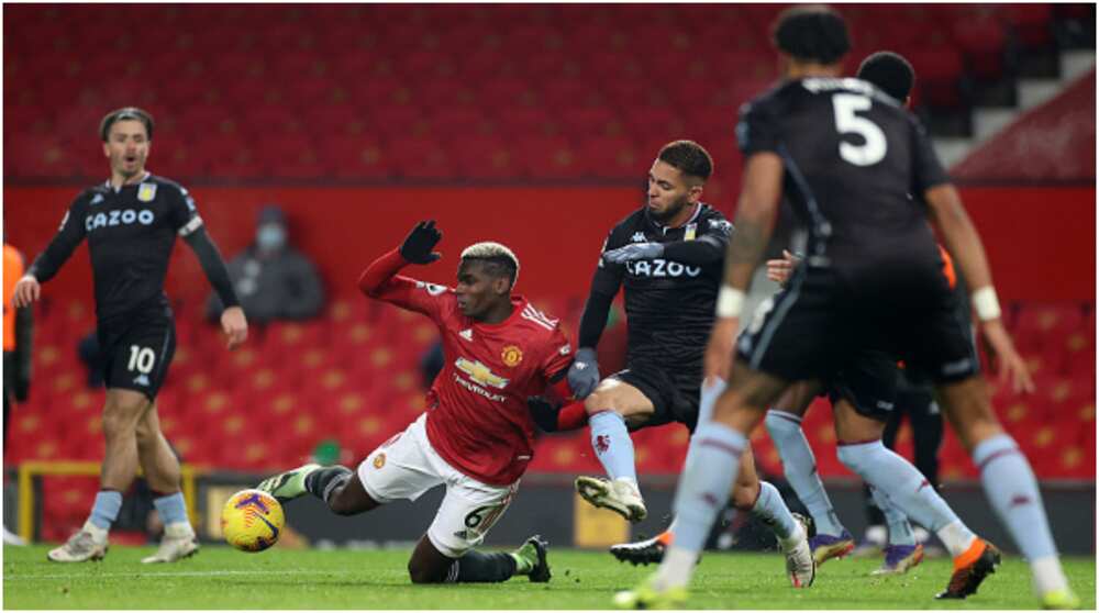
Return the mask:
{"type": "Polygon", "coordinates": [[[771,38],[779,51],[803,62],[835,64],[851,51],[843,16],[823,4],[782,11],[771,29],[771,38]]]}

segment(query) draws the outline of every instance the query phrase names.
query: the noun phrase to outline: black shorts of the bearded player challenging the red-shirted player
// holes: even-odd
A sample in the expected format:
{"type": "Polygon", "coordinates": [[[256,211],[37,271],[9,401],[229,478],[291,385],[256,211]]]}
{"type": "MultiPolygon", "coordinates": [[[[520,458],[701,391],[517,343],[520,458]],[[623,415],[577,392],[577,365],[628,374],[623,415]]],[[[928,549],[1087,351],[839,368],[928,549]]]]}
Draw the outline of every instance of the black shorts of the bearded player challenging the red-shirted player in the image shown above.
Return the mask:
{"type": "Polygon", "coordinates": [[[668,375],[667,369],[644,363],[630,366],[609,378],[637,388],[653,403],[652,417],[630,430],[680,423],[693,434],[695,426],[698,425],[701,379],[695,376],[668,375]]]}

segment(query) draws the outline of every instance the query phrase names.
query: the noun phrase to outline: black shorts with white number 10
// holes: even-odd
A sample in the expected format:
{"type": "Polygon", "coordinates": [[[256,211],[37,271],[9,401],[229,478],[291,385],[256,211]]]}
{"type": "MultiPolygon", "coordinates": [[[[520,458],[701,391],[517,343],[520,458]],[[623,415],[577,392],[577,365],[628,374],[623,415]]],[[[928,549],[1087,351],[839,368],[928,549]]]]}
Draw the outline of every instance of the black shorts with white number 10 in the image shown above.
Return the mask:
{"type": "Polygon", "coordinates": [[[155,309],[122,321],[100,322],[97,334],[107,389],[140,391],[155,400],[176,354],[171,312],[155,309]]]}

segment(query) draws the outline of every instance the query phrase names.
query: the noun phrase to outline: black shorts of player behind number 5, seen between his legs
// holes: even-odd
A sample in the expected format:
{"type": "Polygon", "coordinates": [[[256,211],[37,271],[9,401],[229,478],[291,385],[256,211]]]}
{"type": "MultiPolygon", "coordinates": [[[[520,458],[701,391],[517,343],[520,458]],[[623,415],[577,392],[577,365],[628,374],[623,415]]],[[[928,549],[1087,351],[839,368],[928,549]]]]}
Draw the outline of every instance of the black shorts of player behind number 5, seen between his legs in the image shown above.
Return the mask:
{"type": "Polygon", "coordinates": [[[885,422],[898,410],[900,368],[884,352],[858,352],[825,381],[829,400],[846,400],[864,417],[885,422]]]}

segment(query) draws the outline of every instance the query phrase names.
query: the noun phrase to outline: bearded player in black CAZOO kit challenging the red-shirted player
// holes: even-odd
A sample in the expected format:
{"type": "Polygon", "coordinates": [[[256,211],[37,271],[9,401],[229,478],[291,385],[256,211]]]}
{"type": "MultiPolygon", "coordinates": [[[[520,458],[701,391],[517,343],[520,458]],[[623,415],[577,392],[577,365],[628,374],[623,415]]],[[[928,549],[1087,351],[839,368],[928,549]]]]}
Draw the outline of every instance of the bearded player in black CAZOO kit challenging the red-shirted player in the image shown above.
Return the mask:
{"type": "MultiPolygon", "coordinates": [[[[692,141],[665,145],[648,174],[648,202],[615,225],[603,245],[580,319],[579,349],[568,371],[575,402],[554,413],[532,403],[546,431],[591,427],[591,446],[608,478],[579,477],[577,492],[589,503],[639,522],[647,510],[637,487],[629,431],[681,423],[691,432],[712,408],[723,383],[700,395],[702,343],[713,323],[724,248],[732,225],[701,202],[713,171],[710,154],[692,141]],[[625,288],[628,367],[599,380],[596,346],[619,288],[625,288]],[[708,399],[707,399],[708,397],[708,399]],[[590,416],[590,417],[589,417],[590,416]]],[[[689,461],[689,460],[688,460],[689,461]]],[[[730,498],[725,492],[723,500],[730,498]]],[[[734,508],[751,511],[774,530],[795,587],[809,587],[814,565],[807,532],[778,490],[759,481],[744,462],[732,491],[734,508]]],[[[648,564],[663,553],[670,533],[611,553],[620,560],[648,564]]]]}

